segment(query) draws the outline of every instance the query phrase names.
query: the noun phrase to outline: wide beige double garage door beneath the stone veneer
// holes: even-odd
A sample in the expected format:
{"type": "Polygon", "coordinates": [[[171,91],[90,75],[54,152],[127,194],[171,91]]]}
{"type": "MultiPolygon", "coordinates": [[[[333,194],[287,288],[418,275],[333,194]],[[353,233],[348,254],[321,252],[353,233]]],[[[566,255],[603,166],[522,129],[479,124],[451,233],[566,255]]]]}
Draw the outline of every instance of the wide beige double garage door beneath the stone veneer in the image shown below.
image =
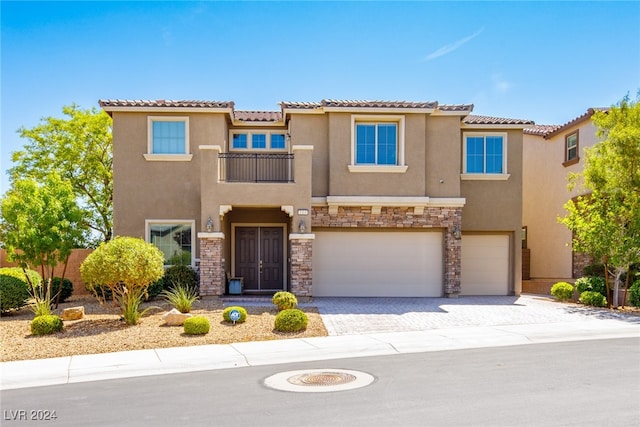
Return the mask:
{"type": "Polygon", "coordinates": [[[313,295],[442,296],[442,233],[319,231],[313,295]]]}

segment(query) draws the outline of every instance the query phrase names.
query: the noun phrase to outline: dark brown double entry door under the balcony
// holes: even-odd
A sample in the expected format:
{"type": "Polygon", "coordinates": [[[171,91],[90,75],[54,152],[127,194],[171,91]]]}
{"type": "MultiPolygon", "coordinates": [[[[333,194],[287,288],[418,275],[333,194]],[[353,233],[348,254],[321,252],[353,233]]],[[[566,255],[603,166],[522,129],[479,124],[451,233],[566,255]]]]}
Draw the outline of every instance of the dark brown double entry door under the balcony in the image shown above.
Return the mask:
{"type": "Polygon", "coordinates": [[[234,276],[245,292],[284,289],[283,235],[284,227],[235,227],[234,276]]]}

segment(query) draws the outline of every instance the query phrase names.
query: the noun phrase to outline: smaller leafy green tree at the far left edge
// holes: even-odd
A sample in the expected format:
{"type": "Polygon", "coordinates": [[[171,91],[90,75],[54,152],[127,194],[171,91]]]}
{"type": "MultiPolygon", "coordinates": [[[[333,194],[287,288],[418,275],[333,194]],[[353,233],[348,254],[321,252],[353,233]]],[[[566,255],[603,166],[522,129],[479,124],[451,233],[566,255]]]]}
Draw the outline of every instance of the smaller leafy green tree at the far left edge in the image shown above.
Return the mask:
{"type": "Polygon", "coordinates": [[[38,290],[30,283],[31,292],[36,303],[42,296],[46,299],[43,304],[50,306],[54,269],[60,263],[66,266],[72,249],[82,239],[84,226],[71,185],[56,173],[42,181],[13,182],[0,205],[0,237],[8,260],[23,268],[28,282],[28,269],[41,271],[47,289],[43,292],[42,287],[38,290]]]}

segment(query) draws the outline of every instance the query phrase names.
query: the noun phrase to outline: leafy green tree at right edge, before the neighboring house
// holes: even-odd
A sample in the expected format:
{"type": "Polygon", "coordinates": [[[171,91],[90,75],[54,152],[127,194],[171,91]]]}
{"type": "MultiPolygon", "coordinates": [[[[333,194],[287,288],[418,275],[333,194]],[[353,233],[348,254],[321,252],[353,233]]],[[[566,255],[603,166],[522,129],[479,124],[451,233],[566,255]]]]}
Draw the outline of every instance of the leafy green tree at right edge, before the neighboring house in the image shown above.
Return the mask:
{"type": "Polygon", "coordinates": [[[574,250],[605,264],[614,281],[615,307],[621,278],[640,262],[639,101],[640,92],[635,101],[627,96],[593,115],[600,142],[586,150],[583,172],[570,176],[569,183],[570,190],[582,186],[585,195],[567,202],[568,214],[560,219],[573,232],[574,250]]]}

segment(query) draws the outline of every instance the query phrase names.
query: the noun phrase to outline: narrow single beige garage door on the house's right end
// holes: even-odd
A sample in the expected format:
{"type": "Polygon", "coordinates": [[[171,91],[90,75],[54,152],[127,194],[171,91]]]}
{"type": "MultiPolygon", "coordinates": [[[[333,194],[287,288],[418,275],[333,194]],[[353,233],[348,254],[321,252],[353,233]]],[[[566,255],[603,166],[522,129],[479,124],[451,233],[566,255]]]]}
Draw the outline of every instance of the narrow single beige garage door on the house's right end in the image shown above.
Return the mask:
{"type": "Polygon", "coordinates": [[[461,295],[509,293],[509,236],[462,236],[461,295]]]}

